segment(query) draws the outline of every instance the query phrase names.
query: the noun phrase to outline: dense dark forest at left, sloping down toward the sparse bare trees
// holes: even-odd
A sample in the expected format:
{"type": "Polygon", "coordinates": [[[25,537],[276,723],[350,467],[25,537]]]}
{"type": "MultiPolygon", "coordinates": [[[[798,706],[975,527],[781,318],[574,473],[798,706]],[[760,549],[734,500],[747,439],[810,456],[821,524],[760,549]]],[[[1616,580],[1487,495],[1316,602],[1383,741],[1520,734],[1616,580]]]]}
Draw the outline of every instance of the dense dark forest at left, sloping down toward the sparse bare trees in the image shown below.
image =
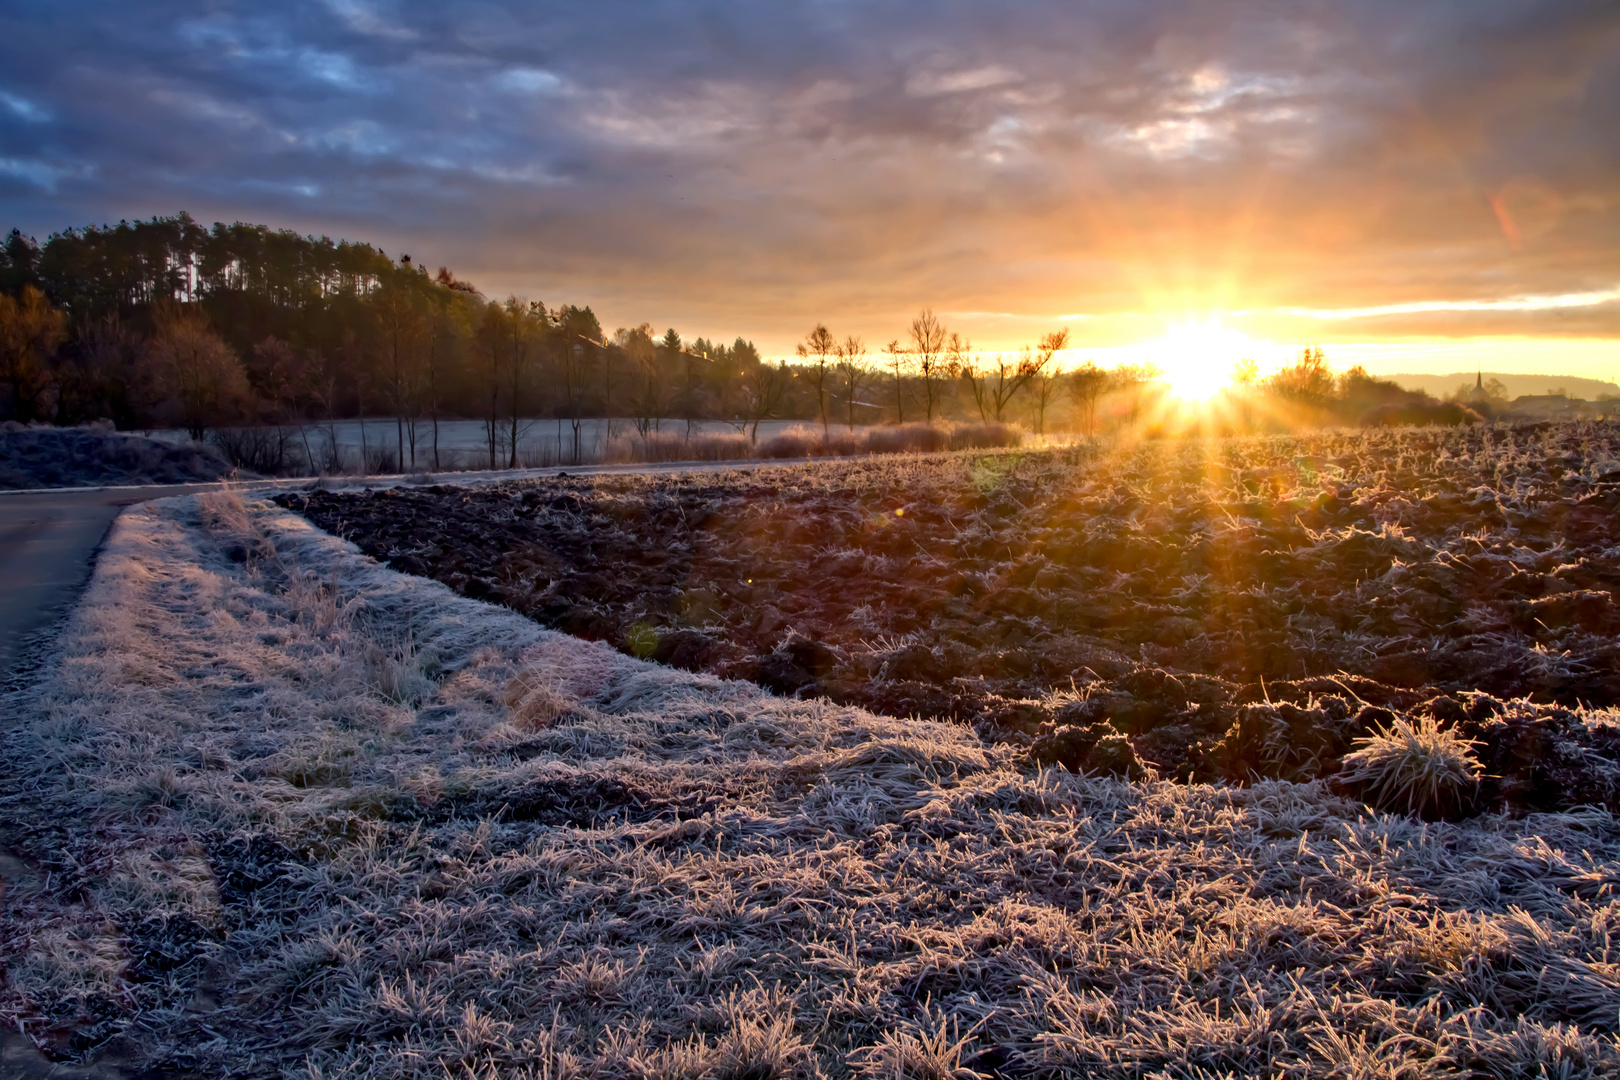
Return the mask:
{"type": "MultiPolygon", "coordinates": [[[[400,465],[437,466],[437,426],[481,419],[491,465],[528,418],[663,423],[757,415],[760,351],[648,325],[604,335],[588,308],[486,298],[408,254],[191,217],[0,248],[0,416],[118,427],[394,423],[400,465]]],[[[787,406],[768,395],[770,410],[787,406]]],[[[311,460],[319,455],[309,447],[311,460]]]]}

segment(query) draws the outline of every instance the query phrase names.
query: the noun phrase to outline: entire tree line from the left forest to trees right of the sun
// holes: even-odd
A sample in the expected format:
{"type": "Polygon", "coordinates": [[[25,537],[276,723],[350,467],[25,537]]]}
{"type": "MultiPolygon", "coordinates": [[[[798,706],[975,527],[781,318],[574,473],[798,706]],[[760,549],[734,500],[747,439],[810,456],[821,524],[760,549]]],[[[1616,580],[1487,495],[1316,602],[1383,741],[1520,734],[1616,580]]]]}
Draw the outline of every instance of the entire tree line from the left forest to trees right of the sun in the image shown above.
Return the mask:
{"type": "MultiPolygon", "coordinates": [[[[300,440],[313,466],[335,465],[343,418],[386,418],[400,468],[441,468],[439,424],[478,419],[496,468],[518,463],[533,418],[554,418],[559,457],[580,460],[593,418],[629,418],[640,436],[729,421],[757,437],[768,419],[823,431],[1017,421],[1045,434],[1061,415],[1095,434],[1100,400],[1140,408],[1150,366],[1064,369],[1066,348],[1058,330],[983,353],[923,309],[876,348],[816,324],[795,363],[773,363],[742,337],[685,340],[648,324],[608,335],[590,306],[486,298],[408,254],[240,222],[204,228],[186,214],[44,244],[11,230],[0,246],[0,416],[193,437],[271,429],[300,440]]],[[[1320,350],[1249,382],[1319,411],[1411,397],[1366,372],[1335,382],[1320,350]]]]}

